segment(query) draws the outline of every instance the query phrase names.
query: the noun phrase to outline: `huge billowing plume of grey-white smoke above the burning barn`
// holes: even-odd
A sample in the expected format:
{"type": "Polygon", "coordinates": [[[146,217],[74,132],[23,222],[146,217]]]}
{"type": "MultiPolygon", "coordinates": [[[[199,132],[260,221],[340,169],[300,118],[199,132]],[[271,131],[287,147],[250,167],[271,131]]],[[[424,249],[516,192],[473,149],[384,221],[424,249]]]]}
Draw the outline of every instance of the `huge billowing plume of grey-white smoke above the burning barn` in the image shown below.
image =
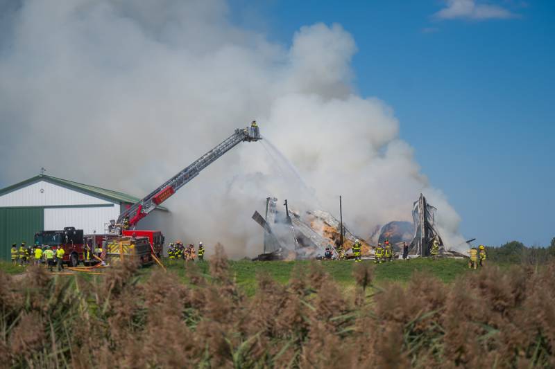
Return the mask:
{"type": "Polygon", "coordinates": [[[243,143],[210,165],[165,204],[168,238],[259,253],[250,215],[268,195],[332,213],[343,195],[346,222],[368,235],[410,220],[423,191],[445,240],[461,242],[458,215],[398,139],[393,110],[355,92],[355,40],[340,25],[302,27],[284,46],[232,24],[223,0],[10,3],[0,8],[6,182],[44,166],[145,194],[257,119],[284,157],[243,143]]]}

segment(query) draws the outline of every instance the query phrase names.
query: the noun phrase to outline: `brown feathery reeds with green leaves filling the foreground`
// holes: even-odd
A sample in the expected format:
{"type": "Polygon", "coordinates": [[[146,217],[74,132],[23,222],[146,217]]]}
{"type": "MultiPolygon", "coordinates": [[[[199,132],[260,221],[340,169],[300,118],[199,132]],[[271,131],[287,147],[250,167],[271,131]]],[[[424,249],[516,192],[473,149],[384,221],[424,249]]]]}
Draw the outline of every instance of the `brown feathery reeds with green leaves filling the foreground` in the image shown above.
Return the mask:
{"type": "Polygon", "coordinates": [[[223,248],[191,285],[135,265],[108,276],[0,273],[0,365],[33,368],[529,368],[554,367],[555,264],[485,268],[445,285],[415,274],[372,285],[357,265],[345,298],[314,264],[287,286],[259,276],[247,298],[223,248]]]}

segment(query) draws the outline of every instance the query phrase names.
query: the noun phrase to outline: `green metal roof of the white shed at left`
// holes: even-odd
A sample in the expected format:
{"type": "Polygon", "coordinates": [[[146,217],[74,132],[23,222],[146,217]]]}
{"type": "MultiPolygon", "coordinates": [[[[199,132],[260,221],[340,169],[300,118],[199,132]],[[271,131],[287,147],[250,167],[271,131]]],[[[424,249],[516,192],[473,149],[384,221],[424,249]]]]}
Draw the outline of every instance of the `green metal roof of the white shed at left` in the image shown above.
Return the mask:
{"type": "MultiPolygon", "coordinates": [[[[96,197],[102,197],[104,199],[110,199],[112,201],[123,202],[123,203],[126,203],[126,204],[135,204],[137,201],[140,200],[138,197],[131,196],[131,195],[128,195],[128,194],[123,193],[123,192],[107,190],[105,188],[91,186],[91,185],[87,185],[87,184],[84,184],[84,183],[68,181],[67,179],[51,177],[51,176],[47,176],[46,174],[39,174],[35,177],[26,179],[25,181],[21,181],[19,183],[15,183],[12,186],[8,186],[6,188],[3,188],[3,189],[0,190],[0,195],[4,195],[8,192],[11,192],[12,190],[22,188],[22,187],[24,187],[24,186],[26,186],[30,183],[35,183],[37,181],[46,181],[46,182],[50,182],[50,183],[55,183],[55,184],[58,184],[58,185],[63,186],[63,187],[71,188],[73,190],[78,190],[80,192],[86,192],[89,195],[93,195],[93,196],[96,196],[96,197]]],[[[164,208],[162,206],[157,206],[157,208],[160,209],[160,210],[167,210],[167,208],[164,208]]]]}

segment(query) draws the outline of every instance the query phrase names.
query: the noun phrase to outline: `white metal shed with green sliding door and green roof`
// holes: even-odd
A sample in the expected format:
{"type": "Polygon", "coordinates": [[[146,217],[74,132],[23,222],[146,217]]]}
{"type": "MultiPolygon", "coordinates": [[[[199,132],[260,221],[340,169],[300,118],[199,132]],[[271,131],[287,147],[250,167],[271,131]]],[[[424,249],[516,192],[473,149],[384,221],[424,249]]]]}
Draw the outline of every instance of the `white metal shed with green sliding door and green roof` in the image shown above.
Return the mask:
{"type": "MultiPolygon", "coordinates": [[[[8,258],[10,245],[33,242],[37,231],[67,226],[85,234],[105,233],[137,197],[83,183],[40,174],[0,190],[0,257],[8,258]]],[[[167,211],[164,208],[158,208],[167,211]]],[[[152,215],[151,215],[152,216],[152,215]]]]}

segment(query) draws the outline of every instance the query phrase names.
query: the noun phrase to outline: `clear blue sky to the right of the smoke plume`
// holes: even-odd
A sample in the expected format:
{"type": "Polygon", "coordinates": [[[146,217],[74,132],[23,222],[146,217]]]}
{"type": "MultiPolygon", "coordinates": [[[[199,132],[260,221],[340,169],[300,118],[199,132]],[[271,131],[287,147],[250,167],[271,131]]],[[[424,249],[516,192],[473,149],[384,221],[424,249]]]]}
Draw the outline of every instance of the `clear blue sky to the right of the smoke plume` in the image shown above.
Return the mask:
{"type": "Polygon", "coordinates": [[[554,1],[233,0],[231,11],[286,46],[301,26],[341,24],[359,48],[359,93],[393,107],[463,235],[555,236],[554,1]]]}

